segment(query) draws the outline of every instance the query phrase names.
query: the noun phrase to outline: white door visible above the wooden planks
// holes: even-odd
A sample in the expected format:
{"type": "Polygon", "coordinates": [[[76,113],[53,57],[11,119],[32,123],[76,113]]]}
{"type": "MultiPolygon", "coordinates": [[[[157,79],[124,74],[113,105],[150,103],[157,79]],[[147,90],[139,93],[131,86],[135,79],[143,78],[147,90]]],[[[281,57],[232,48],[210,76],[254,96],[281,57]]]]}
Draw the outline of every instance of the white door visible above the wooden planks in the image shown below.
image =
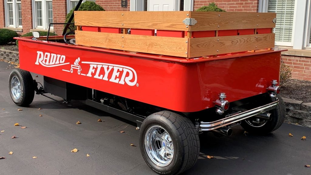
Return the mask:
{"type": "Polygon", "coordinates": [[[179,0],[148,0],[148,11],[179,11],[179,0]]]}

